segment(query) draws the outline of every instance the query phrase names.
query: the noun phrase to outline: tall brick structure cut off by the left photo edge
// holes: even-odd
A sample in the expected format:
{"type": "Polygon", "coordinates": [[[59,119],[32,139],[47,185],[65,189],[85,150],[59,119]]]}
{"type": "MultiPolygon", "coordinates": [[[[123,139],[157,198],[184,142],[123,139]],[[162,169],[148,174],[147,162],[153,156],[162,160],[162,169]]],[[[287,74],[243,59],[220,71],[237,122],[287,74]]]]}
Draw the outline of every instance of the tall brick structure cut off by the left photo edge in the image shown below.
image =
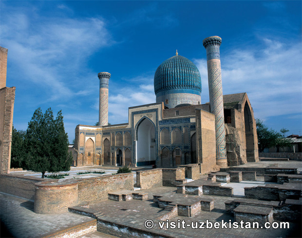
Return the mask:
{"type": "Polygon", "coordinates": [[[0,174],[10,172],[15,87],[6,87],[7,49],[0,47],[0,174]]]}

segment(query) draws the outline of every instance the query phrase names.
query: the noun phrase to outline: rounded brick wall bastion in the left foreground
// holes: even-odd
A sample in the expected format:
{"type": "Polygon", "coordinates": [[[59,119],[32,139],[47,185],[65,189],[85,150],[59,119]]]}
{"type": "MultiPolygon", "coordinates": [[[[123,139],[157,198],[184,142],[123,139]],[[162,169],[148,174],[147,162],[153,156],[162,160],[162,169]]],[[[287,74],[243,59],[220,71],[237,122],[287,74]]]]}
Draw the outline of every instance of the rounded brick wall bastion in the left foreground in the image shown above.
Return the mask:
{"type": "Polygon", "coordinates": [[[38,214],[59,214],[68,212],[69,206],[78,203],[77,181],[36,183],[34,211],[38,214]]]}

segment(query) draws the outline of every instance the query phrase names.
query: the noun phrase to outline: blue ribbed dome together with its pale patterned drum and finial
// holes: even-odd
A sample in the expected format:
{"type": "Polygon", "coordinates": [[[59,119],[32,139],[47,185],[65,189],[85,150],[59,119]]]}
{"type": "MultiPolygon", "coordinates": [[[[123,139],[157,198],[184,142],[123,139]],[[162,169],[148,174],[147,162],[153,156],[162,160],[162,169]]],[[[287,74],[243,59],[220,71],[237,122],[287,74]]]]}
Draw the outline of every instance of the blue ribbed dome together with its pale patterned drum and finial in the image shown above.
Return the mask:
{"type": "Polygon", "coordinates": [[[168,108],[177,105],[200,104],[201,78],[196,65],[186,57],[176,55],[158,66],[154,75],[156,102],[168,108]]]}

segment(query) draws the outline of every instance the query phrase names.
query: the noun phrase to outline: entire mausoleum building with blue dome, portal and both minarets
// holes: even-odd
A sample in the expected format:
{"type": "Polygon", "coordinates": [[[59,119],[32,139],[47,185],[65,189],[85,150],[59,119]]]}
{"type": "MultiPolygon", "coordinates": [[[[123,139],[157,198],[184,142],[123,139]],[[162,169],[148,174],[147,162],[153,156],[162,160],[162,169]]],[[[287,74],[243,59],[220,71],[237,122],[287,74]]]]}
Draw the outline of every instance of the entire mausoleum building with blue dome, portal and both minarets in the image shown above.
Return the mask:
{"type": "Polygon", "coordinates": [[[246,93],[222,95],[220,44],[220,37],[204,40],[209,103],[200,104],[197,67],[176,52],[154,74],[156,103],[129,108],[124,124],[107,126],[108,94],[104,100],[104,93],[108,93],[111,74],[99,73],[101,124],[76,126],[75,165],[155,164],[172,168],[200,164],[200,172],[207,173],[218,167],[257,162],[256,123],[246,93]]]}

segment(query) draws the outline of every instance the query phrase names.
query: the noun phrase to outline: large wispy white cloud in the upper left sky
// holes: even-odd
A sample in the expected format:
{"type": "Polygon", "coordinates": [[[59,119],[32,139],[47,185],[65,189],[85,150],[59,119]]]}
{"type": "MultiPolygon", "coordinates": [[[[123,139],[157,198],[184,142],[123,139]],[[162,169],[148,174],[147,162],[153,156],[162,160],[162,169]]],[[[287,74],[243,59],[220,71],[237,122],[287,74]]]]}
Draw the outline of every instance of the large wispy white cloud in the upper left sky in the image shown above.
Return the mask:
{"type": "MultiPolygon", "coordinates": [[[[63,9],[64,5],[57,7],[63,9]]],[[[66,77],[83,81],[90,73],[85,67],[88,57],[114,43],[104,21],[62,16],[43,18],[29,9],[22,10],[24,13],[20,9],[7,9],[1,22],[1,41],[9,49],[14,76],[32,84],[33,92],[44,92],[41,102],[87,95],[87,90],[74,92],[76,85],[69,84],[66,77]],[[85,75],[79,75],[78,69],[85,75]]]]}

